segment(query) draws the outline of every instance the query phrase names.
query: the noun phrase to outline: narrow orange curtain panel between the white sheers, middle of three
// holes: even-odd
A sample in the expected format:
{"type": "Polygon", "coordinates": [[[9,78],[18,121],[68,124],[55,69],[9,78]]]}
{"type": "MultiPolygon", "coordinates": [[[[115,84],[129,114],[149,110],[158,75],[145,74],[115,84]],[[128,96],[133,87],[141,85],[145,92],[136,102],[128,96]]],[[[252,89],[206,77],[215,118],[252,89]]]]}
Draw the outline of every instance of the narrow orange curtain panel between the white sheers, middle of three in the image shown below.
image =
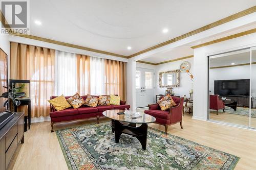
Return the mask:
{"type": "Polygon", "coordinates": [[[77,62],[77,90],[80,95],[90,93],[90,57],[85,55],[76,55],[77,62]]]}

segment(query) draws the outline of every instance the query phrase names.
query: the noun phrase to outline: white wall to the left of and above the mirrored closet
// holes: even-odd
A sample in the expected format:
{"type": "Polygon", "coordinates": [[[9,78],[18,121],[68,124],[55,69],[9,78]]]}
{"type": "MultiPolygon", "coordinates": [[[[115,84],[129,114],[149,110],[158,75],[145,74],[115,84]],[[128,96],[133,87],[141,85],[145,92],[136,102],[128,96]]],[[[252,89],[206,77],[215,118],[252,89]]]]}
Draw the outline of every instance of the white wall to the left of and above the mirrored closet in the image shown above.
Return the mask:
{"type": "Polygon", "coordinates": [[[256,45],[256,33],[196,48],[194,50],[194,115],[207,119],[208,112],[208,61],[207,56],[256,45]]]}

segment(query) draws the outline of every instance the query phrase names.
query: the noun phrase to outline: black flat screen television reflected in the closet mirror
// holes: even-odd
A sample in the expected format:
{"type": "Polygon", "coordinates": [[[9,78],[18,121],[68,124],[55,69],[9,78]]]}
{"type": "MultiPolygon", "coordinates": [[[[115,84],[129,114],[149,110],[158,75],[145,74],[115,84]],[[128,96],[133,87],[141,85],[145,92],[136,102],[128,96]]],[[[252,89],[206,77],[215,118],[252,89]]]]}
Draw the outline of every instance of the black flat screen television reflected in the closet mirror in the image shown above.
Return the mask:
{"type": "Polygon", "coordinates": [[[250,79],[215,80],[214,93],[221,96],[249,96],[250,79]]]}

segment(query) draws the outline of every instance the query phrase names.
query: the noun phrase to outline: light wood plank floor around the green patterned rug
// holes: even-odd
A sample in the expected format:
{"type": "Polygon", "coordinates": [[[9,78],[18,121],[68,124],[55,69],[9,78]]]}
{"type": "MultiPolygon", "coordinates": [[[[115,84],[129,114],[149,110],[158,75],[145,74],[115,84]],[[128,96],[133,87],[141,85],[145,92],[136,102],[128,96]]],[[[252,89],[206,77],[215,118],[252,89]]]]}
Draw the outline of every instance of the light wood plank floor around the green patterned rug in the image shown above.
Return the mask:
{"type": "MultiPolygon", "coordinates": [[[[59,124],[55,130],[89,122],[96,123],[96,118],[59,124]]],[[[164,126],[150,126],[164,131],[164,126]]],[[[187,114],[183,117],[183,128],[179,124],[172,125],[168,133],[241,157],[235,169],[256,169],[256,131],[196,120],[187,114]]],[[[32,124],[10,169],[68,169],[57,136],[55,132],[50,133],[50,129],[50,122],[32,124]]]]}

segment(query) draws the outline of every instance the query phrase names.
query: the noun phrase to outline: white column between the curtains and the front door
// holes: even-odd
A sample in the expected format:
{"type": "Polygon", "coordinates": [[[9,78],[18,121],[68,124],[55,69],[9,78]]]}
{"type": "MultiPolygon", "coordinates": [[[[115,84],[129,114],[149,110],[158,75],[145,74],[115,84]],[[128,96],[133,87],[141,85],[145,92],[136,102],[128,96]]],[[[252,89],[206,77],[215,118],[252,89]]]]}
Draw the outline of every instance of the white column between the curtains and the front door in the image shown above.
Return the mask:
{"type": "Polygon", "coordinates": [[[136,87],[135,87],[136,61],[129,59],[126,65],[126,93],[127,104],[131,105],[131,110],[136,110],[136,87]]]}

